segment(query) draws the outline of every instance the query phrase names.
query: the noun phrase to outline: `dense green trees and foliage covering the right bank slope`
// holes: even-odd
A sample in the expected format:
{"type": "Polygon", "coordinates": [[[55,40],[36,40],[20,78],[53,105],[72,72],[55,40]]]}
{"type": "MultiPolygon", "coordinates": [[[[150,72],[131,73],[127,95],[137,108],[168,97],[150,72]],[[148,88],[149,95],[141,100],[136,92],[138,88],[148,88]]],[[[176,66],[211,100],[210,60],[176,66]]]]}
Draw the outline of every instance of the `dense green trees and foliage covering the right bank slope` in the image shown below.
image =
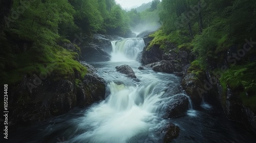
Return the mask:
{"type": "Polygon", "coordinates": [[[190,50],[196,61],[188,72],[221,71],[224,93],[227,86],[237,89],[242,101],[254,107],[249,101],[256,101],[256,1],[162,0],[159,17],[162,27],[151,35],[154,39],[148,48],[158,44],[164,49],[167,40],[190,50]]]}

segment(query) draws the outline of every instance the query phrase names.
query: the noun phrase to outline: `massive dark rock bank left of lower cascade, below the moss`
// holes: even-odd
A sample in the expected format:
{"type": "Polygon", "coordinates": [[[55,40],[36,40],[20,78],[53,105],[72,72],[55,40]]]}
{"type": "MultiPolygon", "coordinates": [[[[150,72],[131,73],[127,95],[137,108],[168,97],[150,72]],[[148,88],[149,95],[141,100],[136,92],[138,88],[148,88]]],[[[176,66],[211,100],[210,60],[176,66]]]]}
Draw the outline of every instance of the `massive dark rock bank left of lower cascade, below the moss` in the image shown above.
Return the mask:
{"type": "MultiPolygon", "coordinates": [[[[88,70],[93,72],[91,65],[88,70]]],[[[87,74],[82,78],[76,72],[65,78],[57,73],[51,73],[46,79],[26,75],[10,88],[10,129],[46,121],[76,106],[89,106],[105,96],[105,81],[102,78],[96,74],[87,74]]]]}

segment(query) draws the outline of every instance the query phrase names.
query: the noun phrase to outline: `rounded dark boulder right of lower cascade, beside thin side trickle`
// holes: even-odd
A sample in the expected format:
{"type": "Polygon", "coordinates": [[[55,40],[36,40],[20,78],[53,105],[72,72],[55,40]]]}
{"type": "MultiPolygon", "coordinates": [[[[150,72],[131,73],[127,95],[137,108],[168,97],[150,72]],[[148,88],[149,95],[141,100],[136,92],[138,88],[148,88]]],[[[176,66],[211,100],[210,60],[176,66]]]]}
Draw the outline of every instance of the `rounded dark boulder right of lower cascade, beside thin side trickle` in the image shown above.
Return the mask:
{"type": "Polygon", "coordinates": [[[164,118],[173,118],[183,115],[188,110],[188,97],[180,94],[175,96],[166,109],[164,118]]]}

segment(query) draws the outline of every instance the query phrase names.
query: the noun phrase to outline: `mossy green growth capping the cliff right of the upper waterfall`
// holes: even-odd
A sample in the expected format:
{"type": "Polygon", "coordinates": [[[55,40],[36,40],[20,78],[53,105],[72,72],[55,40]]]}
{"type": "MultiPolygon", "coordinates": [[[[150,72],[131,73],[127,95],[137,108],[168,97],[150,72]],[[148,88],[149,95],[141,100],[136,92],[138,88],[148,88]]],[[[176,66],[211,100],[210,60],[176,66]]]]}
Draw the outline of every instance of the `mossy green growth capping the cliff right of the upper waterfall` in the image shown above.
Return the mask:
{"type": "Polygon", "coordinates": [[[190,38],[187,36],[186,32],[182,31],[174,31],[169,34],[165,34],[163,30],[158,30],[155,33],[151,34],[149,37],[154,38],[151,42],[150,45],[147,47],[147,49],[151,49],[153,45],[159,45],[160,49],[165,50],[166,42],[172,42],[177,45],[185,45],[185,43],[188,43],[190,41],[190,38]]]}

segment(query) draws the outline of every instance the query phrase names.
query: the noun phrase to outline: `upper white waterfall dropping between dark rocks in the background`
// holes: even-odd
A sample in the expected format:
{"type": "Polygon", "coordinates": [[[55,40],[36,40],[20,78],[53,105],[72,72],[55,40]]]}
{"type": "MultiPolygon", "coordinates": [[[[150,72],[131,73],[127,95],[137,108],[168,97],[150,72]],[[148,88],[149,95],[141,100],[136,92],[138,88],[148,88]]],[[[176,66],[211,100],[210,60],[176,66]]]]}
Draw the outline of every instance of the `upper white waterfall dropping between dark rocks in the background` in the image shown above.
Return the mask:
{"type": "Polygon", "coordinates": [[[145,46],[143,38],[127,38],[112,41],[112,61],[135,60],[145,46]]]}

